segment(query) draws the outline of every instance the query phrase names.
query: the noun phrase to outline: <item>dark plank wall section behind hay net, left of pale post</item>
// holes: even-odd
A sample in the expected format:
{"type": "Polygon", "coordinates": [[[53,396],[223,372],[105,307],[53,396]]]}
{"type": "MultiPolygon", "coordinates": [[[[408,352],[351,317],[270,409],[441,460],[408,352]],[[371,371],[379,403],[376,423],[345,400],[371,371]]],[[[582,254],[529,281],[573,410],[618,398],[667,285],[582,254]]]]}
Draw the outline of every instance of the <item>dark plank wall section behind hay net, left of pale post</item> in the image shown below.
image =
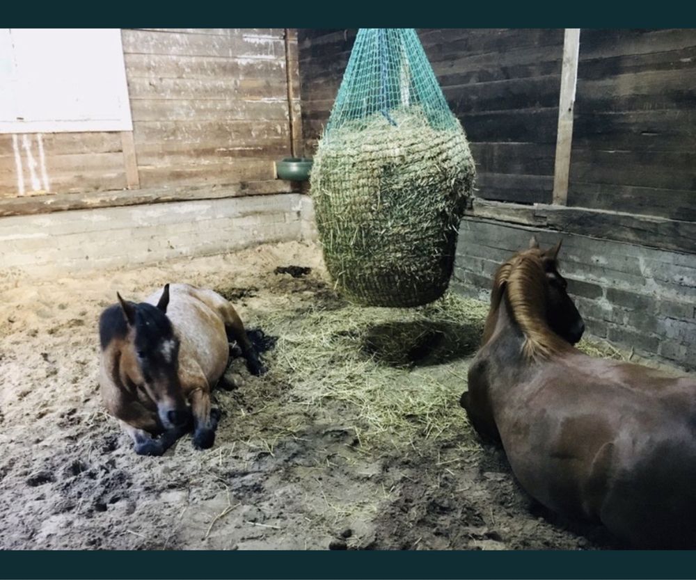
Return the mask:
{"type": "MultiPolygon", "coordinates": [[[[303,130],[313,150],[355,30],[300,30],[303,130]]],[[[550,202],[562,29],[422,29],[418,35],[477,163],[477,195],[550,202]]]]}

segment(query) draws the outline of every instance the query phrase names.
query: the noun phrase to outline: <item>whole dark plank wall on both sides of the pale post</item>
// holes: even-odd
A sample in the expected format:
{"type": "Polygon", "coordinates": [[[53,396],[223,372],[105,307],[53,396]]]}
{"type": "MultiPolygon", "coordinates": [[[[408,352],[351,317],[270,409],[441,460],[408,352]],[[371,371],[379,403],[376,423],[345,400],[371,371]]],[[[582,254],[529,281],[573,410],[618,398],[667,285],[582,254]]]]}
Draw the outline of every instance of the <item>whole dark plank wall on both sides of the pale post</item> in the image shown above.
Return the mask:
{"type": "MultiPolygon", "coordinates": [[[[477,195],[551,203],[563,31],[418,31],[477,162],[477,195]]],[[[355,30],[300,33],[314,147],[355,30]]],[[[696,220],[696,30],[580,32],[568,204],[696,220]]]]}

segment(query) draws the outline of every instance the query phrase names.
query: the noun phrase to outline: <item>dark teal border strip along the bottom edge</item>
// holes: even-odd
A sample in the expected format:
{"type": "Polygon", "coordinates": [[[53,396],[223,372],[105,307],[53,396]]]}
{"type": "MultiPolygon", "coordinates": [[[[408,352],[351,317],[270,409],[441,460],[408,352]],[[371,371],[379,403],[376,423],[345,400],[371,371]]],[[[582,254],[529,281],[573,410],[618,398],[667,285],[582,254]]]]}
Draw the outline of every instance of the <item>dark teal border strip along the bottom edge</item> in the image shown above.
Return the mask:
{"type": "Polygon", "coordinates": [[[696,551],[6,551],[6,578],[693,579],[696,551]]]}

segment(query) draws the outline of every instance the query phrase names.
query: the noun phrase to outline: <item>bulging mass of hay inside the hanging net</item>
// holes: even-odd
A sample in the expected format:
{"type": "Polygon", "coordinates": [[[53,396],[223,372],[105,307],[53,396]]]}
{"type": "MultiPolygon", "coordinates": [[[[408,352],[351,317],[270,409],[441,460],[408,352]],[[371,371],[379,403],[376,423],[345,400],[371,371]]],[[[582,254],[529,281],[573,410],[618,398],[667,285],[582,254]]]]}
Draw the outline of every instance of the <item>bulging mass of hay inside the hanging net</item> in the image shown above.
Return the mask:
{"type": "MultiPolygon", "coordinates": [[[[451,114],[451,113],[450,113],[451,114]]],[[[464,129],[434,129],[420,106],[332,129],[314,159],[311,195],[326,268],[354,303],[411,307],[448,287],[473,188],[464,129]]]]}

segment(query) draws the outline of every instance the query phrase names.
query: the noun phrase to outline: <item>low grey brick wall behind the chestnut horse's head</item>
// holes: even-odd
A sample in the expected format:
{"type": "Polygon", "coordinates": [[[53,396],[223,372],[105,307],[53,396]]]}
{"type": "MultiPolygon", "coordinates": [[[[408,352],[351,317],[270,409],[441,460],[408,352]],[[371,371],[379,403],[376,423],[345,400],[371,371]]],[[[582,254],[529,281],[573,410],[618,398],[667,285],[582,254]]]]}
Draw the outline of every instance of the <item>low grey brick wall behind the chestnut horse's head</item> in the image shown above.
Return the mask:
{"type": "Polygon", "coordinates": [[[563,239],[560,271],[587,332],[696,370],[696,255],[475,219],[461,223],[453,286],[488,299],[493,274],[532,234],[563,239]]]}

